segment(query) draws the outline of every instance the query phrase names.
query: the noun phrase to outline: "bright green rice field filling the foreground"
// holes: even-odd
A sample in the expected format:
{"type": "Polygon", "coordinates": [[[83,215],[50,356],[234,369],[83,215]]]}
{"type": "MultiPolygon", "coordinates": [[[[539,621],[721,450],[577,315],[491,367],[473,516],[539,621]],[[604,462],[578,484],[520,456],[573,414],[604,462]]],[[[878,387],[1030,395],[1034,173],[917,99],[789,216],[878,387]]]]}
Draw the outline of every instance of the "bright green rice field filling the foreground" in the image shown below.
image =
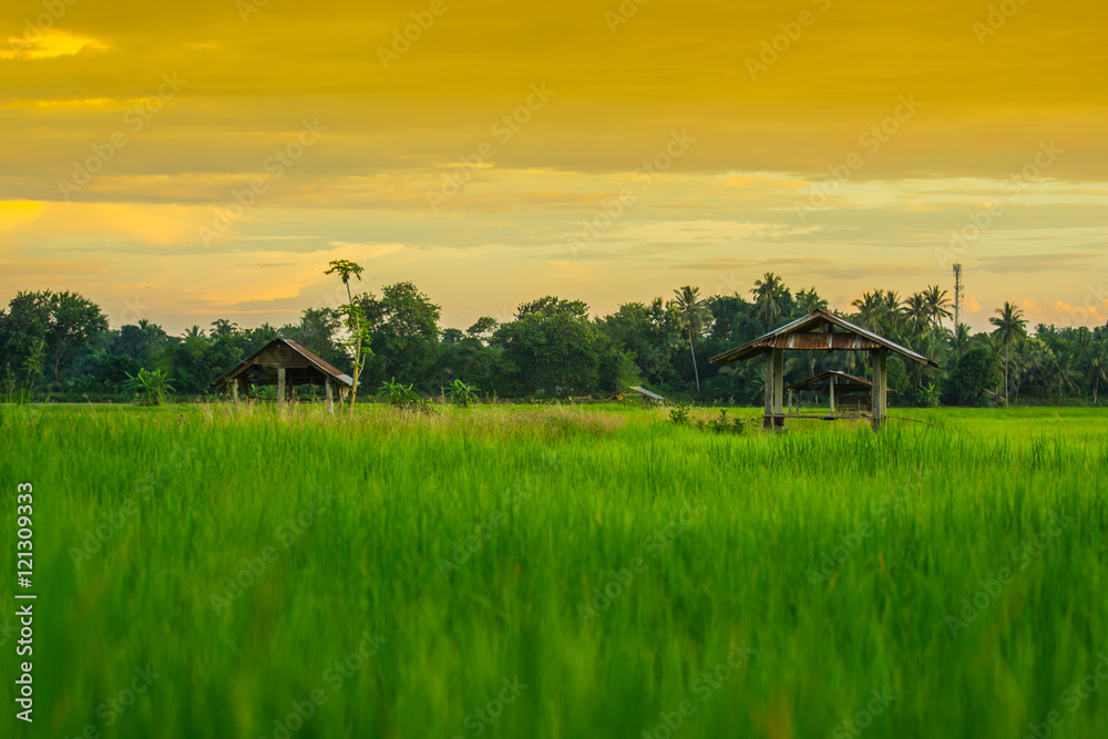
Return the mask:
{"type": "Polygon", "coordinates": [[[0,736],[1108,737],[1108,412],[893,413],[0,408],[0,736]]]}

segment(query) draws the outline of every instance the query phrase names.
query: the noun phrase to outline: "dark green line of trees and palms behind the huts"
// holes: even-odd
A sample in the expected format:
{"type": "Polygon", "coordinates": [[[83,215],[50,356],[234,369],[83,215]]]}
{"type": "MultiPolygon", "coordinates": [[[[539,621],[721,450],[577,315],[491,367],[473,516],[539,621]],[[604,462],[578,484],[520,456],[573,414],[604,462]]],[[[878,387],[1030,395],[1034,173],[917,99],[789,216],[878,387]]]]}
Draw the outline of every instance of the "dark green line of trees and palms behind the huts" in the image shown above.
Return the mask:
{"type": "MultiPolygon", "coordinates": [[[[579,300],[544,297],[514,318],[479,319],[465,330],[439,327],[440,307],[411,283],[380,296],[353,296],[370,335],[362,397],[394,378],[439,396],[455,379],[486,398],[602,397],[642,384],[671,399],[760,404],[762,363],[708,361],[814,308],[828,308],[814,288],[790,290],[772,273],[747,297],[701,297],[695,287],[649,302],[628,302],[589,318],[579,300]]],[[[890,358],[894,404],[1099,402],[1108,368],[1108,328],[1029,331],[1018,308],[1005,304],[992,330],[948,328],[951,300],[929,287],[910,296],[866,292],[842,315],[910,349],[938,368],[890,358]]],[[[161,371],[173,394],[203,397],[208,383],[267,341],[293,339],[343,371],[351,356],[338,311],[306,308],[297,324],[243,328],[219,319],[170,336],[148,320],[112,329],[103,311],[73,292],[20,292],[0,310],[2,391],[12,399],[123,400],[140,370],[161,371]]],[[[786,382],[839,369],[865,376],[860,352],[787,352],[786,382]]]]}

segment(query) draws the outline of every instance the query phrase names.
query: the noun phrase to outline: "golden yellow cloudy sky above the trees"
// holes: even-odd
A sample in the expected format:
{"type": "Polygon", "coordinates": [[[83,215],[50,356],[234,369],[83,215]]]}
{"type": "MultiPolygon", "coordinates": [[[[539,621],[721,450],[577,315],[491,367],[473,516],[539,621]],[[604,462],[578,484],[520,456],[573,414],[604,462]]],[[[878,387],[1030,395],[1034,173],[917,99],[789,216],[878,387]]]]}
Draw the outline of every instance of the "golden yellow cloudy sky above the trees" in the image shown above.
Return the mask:
{"type": "Polygon", "coordinates": [[[957,258],[974,328],[1004,300],[1102,324],[1105,28],[1068,0],[6,0],[0,300],[280,324],[347,258],[464,328],[767,270],[847,308],[957,258]]]}

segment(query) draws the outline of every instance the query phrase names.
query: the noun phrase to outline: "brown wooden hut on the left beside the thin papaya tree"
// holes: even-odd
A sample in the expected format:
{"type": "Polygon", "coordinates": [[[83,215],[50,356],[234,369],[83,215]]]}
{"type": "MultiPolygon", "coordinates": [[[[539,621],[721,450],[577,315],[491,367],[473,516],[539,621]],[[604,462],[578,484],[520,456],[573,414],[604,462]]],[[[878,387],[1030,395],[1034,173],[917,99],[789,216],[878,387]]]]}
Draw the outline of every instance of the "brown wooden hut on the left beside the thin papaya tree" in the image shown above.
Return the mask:
{"type": "Polygon", "coordinates": [[[250,397],[250,388],[260,384],[277,386],[277,402],[285,401],[285,389],[295,397],[298,384],[321,384],[327,389],[327,409],[335,411],[334,388],[340,396],[353,387],[353,378],[308,351],[291,339],[274,339],[233,368],[212,380],[212,387],[230,388],[235,402],[238,389],[250,397]]]}

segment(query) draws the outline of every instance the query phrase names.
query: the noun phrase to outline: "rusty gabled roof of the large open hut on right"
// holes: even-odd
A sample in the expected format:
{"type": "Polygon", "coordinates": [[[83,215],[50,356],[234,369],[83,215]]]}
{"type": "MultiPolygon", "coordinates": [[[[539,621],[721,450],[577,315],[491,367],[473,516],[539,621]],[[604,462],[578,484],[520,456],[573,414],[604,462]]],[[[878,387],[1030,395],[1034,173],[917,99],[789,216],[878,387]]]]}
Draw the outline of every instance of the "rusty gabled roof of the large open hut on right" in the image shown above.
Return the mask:
{"type": "Polygon", "coordinates": [[[774,349],[799,351],[873,351],[888,349],[894,353],[922,365],[938,367],[938,362],[916,353],[895,341],[851,324],[841,316],[825,310],[813,310],[803,318],[786,324],[741,347],[716,355],[709,361],[730,363],[750,359],[774,349]]]}

